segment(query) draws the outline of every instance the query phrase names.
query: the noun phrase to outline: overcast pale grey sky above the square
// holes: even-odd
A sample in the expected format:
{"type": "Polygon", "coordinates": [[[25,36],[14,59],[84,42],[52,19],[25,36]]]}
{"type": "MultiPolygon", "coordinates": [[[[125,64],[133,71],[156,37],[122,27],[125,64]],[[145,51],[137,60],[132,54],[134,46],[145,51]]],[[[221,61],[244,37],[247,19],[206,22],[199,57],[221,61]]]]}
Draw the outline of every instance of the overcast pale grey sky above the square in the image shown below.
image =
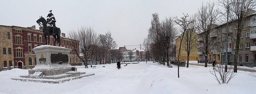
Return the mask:
{"type": "MultiPolygon", "coordinates": [[[[62,33],[91,26],[98,34],[110,31],[118,46],[134,49],[148,35],[153,13],[159,19],[194,14],[209,0],[1,0],[0,25],[31,27],[39,25],[52,10],[62,33]]],[[[211,0],[211,2],[213,2],[211,0]]]]}

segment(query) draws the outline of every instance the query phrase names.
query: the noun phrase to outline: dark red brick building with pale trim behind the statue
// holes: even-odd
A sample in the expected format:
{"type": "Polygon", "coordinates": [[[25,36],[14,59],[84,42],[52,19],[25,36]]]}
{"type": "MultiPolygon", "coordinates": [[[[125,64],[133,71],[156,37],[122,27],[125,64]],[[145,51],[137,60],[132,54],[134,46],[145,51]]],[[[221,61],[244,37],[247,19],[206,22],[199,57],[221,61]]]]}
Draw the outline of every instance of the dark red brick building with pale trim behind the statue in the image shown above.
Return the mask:
{"type": "MultiPolygon", "coordinates": [[[[45,44],[45,37],[42,30],[36,29],[35,26],[27,28],[18,26],[6,26],[6,28],[7,27],[11,27],[10,31],[13,33],[12,44],[14,54],[12,55],[14,57],[15,68],[27,69],[33,68],[35,65],[39,64],[39,62],[36,62],[36,54],[32,51],[32,49],[45,44]]],[[[54,38],[51,36],[50,45],[53,45],[53,41],[54,38]]],[[[65,34],[62,34],[61,46],[71,49],[70,43],[71,40],[65,37],[65,34]]],[[[79,61],[79,58],[74,54],[73,51],[71,51],[69,54],[69,63],[75,63],[79,61]]]]}

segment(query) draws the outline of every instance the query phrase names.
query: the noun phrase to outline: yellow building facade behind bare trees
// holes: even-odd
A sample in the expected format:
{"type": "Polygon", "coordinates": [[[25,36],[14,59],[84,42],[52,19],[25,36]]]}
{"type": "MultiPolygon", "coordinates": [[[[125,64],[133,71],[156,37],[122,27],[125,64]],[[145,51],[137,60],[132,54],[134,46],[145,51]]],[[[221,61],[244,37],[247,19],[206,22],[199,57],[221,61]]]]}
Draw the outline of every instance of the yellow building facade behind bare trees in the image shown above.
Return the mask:
{"type": "MultiPolygon", "coordinates": [[[[195,31],[192,31],[193,32],[193,37],[194,40],[192,45],[193,45],[193,48],[191,51],[193,52],[190,52],[189,54],[189,60],[199,60],[199,56],[197,55],[197,45],[198,45],[198,42],[197,42],[197,38],[198,38],[198,35],[195,31]]],[[[176,60],[178,60],[178,54],[179,54],[179,48],[180,48],[180,41],[181,41],[181,38],[182,38],[182,35],[178,37],[178,39],[176,39],[176,60]]],[[[185,42],[185,35],[183,37],[183,40],[182,40],[182,44],[181,44],[181,50],[180,50],[180,60],[187,60],[187,52],[185,51],[185,47],[184,45],[186,45],[186,42],[185,42]]]]}

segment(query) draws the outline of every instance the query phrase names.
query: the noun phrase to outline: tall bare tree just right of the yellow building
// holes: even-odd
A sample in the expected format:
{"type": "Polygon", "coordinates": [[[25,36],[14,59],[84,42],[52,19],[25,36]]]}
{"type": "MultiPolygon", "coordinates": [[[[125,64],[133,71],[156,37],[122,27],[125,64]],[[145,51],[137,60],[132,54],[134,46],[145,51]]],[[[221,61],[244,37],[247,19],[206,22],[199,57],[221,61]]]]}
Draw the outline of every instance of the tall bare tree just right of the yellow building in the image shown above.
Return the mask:
{"type": "Polygon", "coordinates": [[[207,5],[201,6],[197,12],[198,20],[198,32],[199,37],[203,39],[202,44],[199,45],[198,51],[202,52],[205,57],[205,65],[207,67],[208,63],[208,53],[214,48],[210,47],[212,36],[217,34],[217,30],[214,27],[217,26],[218,11],[214,9],[214,3],[207,3],[207,5]]]}

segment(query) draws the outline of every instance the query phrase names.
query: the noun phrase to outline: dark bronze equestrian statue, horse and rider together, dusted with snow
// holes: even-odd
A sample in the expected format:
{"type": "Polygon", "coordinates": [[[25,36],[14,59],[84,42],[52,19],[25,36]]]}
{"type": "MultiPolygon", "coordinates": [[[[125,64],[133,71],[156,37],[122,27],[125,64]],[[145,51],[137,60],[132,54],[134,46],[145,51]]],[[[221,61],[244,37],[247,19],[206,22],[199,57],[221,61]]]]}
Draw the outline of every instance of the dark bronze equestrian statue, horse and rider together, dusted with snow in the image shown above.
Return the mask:
{"type": "Polygon", "coordinates": [[[47,15],[47,21],[41,16],[37,21],[37,24],[42,27],[43,25],[43,33],[45,37],[45,45],[50,44],[50,36],[53,36],[54,38],[54,43],[53,45],[55,46],[55,43],[57,41],[57,44],[60,46],[60,28],[55,26],[55,17],[52,14],[52,10],[49,11],[49,14],[47,15]],[[42,23],[41,23],[42,22],[42,23]],[[47,38],[48,36],[48,38],[47,38]],[[57,38],[56,38],[57,36],[57,38]],[[47,42],[48,39],[48,42],[47,42]]]}

